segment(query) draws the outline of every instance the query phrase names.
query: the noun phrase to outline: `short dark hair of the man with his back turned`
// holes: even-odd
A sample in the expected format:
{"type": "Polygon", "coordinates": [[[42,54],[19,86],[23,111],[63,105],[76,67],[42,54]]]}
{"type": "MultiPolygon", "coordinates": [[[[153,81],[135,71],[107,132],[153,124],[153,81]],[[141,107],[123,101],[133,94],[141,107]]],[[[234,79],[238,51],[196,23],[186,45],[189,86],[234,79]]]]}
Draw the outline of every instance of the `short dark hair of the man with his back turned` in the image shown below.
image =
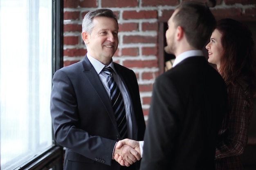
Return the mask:
{"type": "Polygon", "coordinates": [[[182,27],[187,41],[195,49],[204,47],[216,27],[216,19],[209,9],[215,5],[215,0],[206,3],[184,1],[176,8],[175,27],[182,27]]]}

